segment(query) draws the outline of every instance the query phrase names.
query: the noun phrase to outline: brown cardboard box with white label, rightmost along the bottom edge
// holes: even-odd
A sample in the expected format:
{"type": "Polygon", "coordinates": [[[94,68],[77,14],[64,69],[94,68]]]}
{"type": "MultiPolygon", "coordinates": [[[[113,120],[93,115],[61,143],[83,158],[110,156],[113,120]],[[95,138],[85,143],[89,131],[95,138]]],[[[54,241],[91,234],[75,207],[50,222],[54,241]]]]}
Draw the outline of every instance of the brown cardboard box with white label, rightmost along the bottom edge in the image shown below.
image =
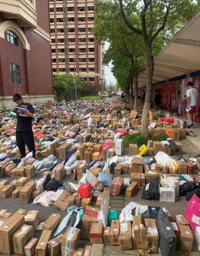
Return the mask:
{"type": "Polygon", "coordinates": [[[189,226],[179,225],[180,235],[180,250],[186,252],[192,252],[193,235],[189,226]]]}

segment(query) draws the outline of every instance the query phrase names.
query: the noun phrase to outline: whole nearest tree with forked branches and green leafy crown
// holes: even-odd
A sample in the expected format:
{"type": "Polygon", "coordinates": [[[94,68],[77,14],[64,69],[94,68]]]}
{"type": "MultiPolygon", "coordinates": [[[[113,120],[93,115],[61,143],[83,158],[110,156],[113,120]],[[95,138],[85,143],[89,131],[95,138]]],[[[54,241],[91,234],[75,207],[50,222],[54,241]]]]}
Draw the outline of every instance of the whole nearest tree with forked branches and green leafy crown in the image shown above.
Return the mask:
{"type": "Polygon", "coordinates": [[[145,45],[146,99],[142,114],[142,135],[148,136],[148,117],[154,72],[153,43],[162,32],[169,37],[192,18],[197,5],[190,0],[114,0],[122,19],[132,33],[139,34],[145,45]],[[178,26],[176,24],[179,24],[178,26]]]}

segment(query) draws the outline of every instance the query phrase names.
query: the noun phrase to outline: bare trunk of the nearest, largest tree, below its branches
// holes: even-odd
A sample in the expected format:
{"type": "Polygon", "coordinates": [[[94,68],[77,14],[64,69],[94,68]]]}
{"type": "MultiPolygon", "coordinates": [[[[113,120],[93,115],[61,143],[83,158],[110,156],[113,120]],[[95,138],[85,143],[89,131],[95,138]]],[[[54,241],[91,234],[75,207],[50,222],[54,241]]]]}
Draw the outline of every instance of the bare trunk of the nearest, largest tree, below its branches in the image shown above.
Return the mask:
{"type": "Polygon", "coordinates": [[[142,136],[148,137],[149,109],[151,106],[152,78],[154,72],[154,56],[151,46],[146,45],[146,95],[142,112],[142,136]]]}

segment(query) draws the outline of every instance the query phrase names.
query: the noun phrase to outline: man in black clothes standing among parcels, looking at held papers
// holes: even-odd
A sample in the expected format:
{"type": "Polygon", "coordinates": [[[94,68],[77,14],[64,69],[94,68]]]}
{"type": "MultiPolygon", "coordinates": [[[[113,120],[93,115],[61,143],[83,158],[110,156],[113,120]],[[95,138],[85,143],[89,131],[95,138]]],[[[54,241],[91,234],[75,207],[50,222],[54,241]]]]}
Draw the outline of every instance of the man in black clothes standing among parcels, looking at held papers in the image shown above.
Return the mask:
{"type": "Polygon", "coordinates": [[[13,101],[17,104],[15,111],[18,114],[16,142],[20,151],[21,158],[25,158],[26,156],[25,144],[27,145],[28,150],[33,152],[34,158],[36,155],[36,148],[32,130],[32,118],[34,115],[33,106],[30,103],[25,103],[20,94],[14,94],[13,101]],[[18,107],[22,109],[19,109],[18,107]]]}

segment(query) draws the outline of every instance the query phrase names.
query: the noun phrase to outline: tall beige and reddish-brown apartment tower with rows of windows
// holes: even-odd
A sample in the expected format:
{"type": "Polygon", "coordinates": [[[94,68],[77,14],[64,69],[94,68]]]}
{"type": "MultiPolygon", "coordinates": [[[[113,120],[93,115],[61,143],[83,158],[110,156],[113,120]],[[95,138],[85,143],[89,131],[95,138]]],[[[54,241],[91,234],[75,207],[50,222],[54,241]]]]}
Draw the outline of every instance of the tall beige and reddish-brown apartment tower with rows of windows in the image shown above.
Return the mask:
{"type": "Polygon", "coordinates": [[[96,1],[49,0],[52,71],[74,74],[74,49],[76,75],[84,77],[87,83],[104,85],[104,43],[98,45],[90,33],[95,25],[96,1]]]}

